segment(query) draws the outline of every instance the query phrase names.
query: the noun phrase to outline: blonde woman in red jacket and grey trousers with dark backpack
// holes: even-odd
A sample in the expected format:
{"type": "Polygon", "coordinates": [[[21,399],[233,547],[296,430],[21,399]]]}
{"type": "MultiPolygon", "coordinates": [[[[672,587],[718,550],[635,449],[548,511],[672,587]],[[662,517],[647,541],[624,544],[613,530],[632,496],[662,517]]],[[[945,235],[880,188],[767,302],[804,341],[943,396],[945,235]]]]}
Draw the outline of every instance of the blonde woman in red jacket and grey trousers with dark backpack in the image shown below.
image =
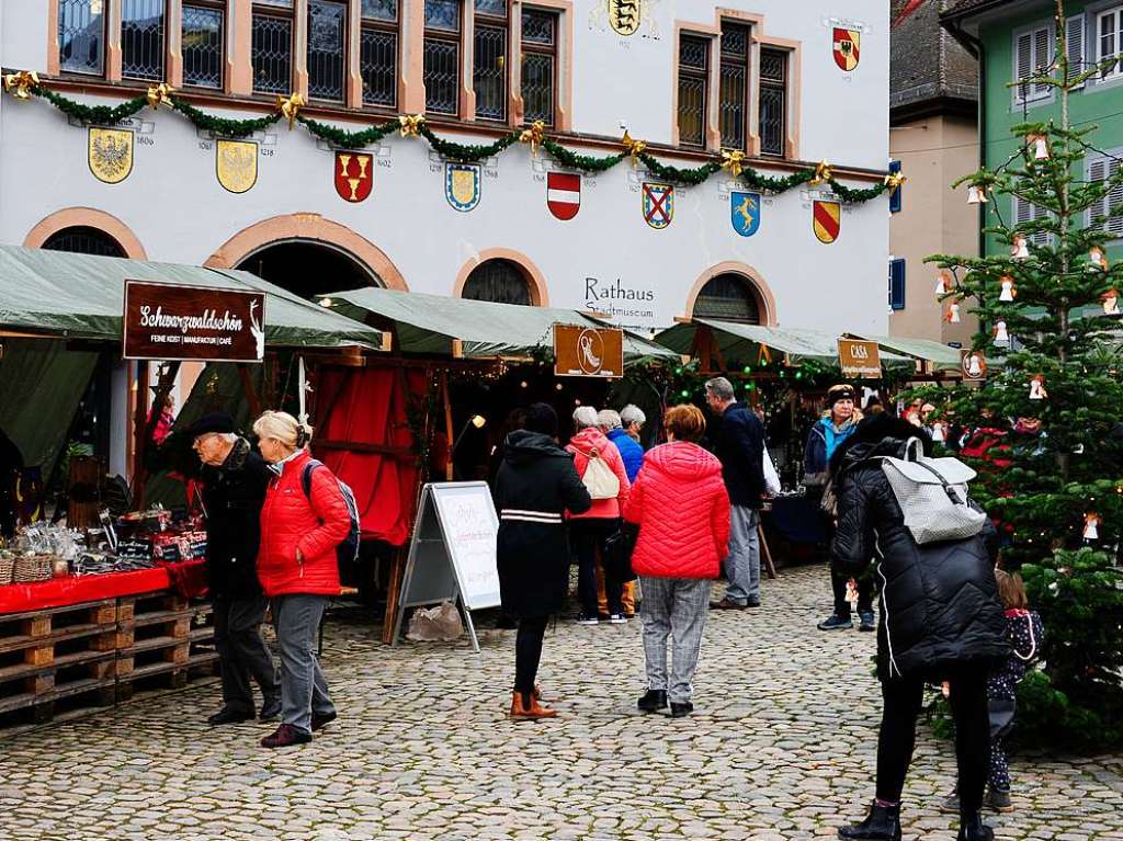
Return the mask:
{"type": "Polygon", "coordinates": [[[336,547],[350,531],[339,482],[312,458],[312,430],[285,412],[254,423],[258,449],[275,474],[262,508],[257,577],[270,598],[281,650],[281,725],[263,748],[312,740],[336,719],[316,657],[316,633],[328,597],[339,595],[336,547]]]}

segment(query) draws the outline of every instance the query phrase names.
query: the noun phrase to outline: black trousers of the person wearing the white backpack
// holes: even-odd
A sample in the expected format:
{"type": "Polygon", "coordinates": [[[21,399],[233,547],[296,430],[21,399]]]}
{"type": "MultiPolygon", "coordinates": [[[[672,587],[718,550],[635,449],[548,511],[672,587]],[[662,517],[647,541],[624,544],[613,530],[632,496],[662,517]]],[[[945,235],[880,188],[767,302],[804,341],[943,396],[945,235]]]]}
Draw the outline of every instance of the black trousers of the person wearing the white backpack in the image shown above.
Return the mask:
{"type": "MultiPolygon", "coordinates": [[[[990,762],[990,719],[987,713],[986,670],[962,667],[948,677],[951,716],[956,722],[956,761],[959,766],[959,811],[962,817],[983,807],[990,762]]],[[[901,801],[905,775],[916,743],[916,716],[924,703],[924,679],[896,677],[882,682],[885,706],[877,739],[877,797],[901,801]]]]}

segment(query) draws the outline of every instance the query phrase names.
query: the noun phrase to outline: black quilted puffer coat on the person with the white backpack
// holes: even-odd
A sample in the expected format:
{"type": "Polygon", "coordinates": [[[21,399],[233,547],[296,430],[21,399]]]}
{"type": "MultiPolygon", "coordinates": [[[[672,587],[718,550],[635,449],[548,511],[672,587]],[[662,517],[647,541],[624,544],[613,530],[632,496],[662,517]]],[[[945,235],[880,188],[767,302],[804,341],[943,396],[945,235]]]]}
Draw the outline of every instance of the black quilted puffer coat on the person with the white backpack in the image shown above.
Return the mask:
{"type": "MultiPolygon", "coordinates": [[[[1005,619],[987,541],[994,528],[966,540],[920,546],[904,515],[879,456],[902,458],[910,437],[926,435],[896,418],[879,414],[831,459],[838,500],[838,529],[831,561],[847,576],[868,573],[876,560],[880,588],[878,676],[922,676],[942,680],[965,662],[988,666],[1008,653],[1005,619]]],[[[992,542],[992,548],[993,548],[992,542]]]]}

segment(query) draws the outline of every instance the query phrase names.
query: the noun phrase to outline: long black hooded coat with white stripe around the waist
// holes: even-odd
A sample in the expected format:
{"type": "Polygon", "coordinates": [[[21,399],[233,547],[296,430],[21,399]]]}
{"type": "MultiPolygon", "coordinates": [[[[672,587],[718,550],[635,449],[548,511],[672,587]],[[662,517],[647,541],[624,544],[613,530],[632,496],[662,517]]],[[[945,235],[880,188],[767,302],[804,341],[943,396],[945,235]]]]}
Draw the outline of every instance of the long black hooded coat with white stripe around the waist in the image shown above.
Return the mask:
{"type": "Polygon", "coordinates": [[[565,512],[592,506],[573,454],[540,432],[506,437],[495,479],[499,511],[499,584],[512,616],[549,616],[565,609],[569,592],[569,539],[565,512]]]}

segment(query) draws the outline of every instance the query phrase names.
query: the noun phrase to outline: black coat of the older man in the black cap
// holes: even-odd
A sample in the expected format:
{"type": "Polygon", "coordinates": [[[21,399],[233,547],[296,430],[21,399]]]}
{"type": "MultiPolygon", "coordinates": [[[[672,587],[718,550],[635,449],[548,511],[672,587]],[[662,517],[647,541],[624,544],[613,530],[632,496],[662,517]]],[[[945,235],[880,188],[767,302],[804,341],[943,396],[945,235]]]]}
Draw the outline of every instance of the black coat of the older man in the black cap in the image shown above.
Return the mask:
{"type": "Polygon", "coordinates": [[[262,541],[262,505],[274,474],[249,442],[239,438],[219,467],[203,467],[207,510],[207,584],[211,598],[253,598],[257,549],[262,541]]]}

